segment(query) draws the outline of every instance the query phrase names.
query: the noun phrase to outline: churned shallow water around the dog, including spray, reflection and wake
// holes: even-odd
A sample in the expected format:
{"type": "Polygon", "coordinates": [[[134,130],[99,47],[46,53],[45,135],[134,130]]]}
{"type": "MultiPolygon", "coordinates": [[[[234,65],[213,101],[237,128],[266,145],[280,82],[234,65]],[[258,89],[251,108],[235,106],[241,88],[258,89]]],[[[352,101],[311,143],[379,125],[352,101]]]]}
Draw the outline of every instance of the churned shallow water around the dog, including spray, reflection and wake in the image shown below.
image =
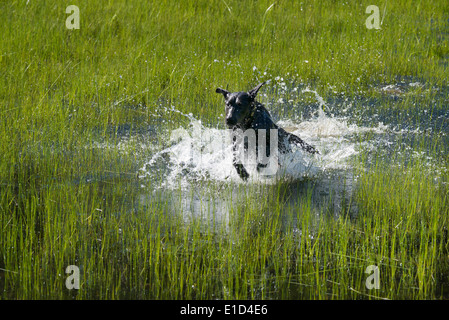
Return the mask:
{"type": "MultiPolygon", "coordinates": [[[[419,122],[414,115],[416,119],[399,123],[393,120],[397,120],[397,114],[380,110],[380,106],[376,114],[372,112],[376,109],[373,106],[357,113],[356,103],[326,104],[314,90],[302,88],[297,91],[302,95],[312,95],[316,100],[312,106],[315,109],[308,106],[308,110],[303,109],[301,117],[279,118],[277,124],[292,129],[294,134],[314,145],[319,155],[312,156],[294,148],[292,153],[279,157],[275,175],[267,176],[263,171],[258,173],[254,166],[249,166],[251,177],[244,182],[232,165],[228,130],[221,125],[204,125],[193,114],[184,114],[175,107],[164,108],[162,114],[178,113],[185,121],[175,125],[174,129],[158,128],[154,132],[159,132],[157,140],[162,143],[145,146],[139,170],[141,202],[151,202],[158,194],[172,204],[173,213],[181,214],[186,221],[201,217],[216,225],[217,221],[227,221],[230,212],[247,201],[248,198],[242,194],[251,187],[264,189],[260,195],[264,198],[279,195],[279,188],[283,188],[282,197],[279,199],[278,196],[276,200],[278,210],[285,215],[285,225],[295,227],[288,212],[291,208],[298,208],[307,196],[317,216],[323,213],[355,216],[358,210],[353,201],[357,186],[356,169],[369,170],[378,157],[391,158],[392,164],[399,161],[400,165],[407,165],[413,159],[424,159],[429,170],[436,175],[436,171],[446,170],[436,168],[437,160],[426,152],[431,149],[435,128],[442,128],[439,135],[447,141],[447,110],[434,110],[432,117],[425,118],[425,121],[419,122]],[[308,116],[304,117],[304,114],[308,116]],[[415,143],[424,141],[425,144],[426,138],[429,141],[427,151],[417,152],[415,143]],[[362,152],[366,158],[360,162],[357,156],[362,152]]],[[[267,107],[270,109],[270,103],[267,107]]],[[[277,116],[274,112],[275,120],[277,116]]],[[[159,122],[160,126],[163,124],[159,122]]],[[[444,142],[437,148],[441,145],[444,146],[444,142]]],[[[254,197],[253,201],[257,201],[257,194],[254,197]]]]}

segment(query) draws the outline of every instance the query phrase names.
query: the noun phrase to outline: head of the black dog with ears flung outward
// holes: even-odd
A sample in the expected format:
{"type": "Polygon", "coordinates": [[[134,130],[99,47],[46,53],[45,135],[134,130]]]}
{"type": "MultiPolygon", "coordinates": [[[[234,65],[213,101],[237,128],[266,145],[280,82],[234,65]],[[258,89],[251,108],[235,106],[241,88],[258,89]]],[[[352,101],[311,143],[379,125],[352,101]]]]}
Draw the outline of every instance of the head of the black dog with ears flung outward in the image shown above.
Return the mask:
{"type": "Polygon", "coordinates": [[[217,88],[215,92],[223,94],[226,102],[226,124],[228,127],[239,126],[250,115],[257,92],[265,82],[257,85],[248,92],[229,92],[217,88]]]}

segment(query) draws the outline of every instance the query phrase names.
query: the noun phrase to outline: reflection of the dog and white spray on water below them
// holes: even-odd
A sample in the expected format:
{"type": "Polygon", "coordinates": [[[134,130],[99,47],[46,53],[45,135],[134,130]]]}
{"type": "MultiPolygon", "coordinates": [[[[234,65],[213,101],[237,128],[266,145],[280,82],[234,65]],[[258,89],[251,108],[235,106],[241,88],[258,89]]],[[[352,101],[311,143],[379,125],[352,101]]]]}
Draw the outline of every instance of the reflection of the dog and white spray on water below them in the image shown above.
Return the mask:
{"type": "Polygon", "coordinates": [[[234,214],[259,206],[262,212],[279,214],[283,229],[291,229],[298,227],[296,219],[305,210],[305,204],[307,210],[315,214],[317,221],[322,214],[355,216],[357,207],[352,199],[353,191],[352,173],[332,170],[313,179],[279,181],[277,184],[245,186],[222,183],[221,186],[192,185],[188,189],[175,188],[169,191],[158,189],[150,195],[143,193],[140,201],[145,205],[157,197],[169,204],[168,214],[182,217],[185,223],[201,221],[203,225],[217,230],[228,230],[234,214]],[[248,205],[251,208],[247,208],[248,205]]]}

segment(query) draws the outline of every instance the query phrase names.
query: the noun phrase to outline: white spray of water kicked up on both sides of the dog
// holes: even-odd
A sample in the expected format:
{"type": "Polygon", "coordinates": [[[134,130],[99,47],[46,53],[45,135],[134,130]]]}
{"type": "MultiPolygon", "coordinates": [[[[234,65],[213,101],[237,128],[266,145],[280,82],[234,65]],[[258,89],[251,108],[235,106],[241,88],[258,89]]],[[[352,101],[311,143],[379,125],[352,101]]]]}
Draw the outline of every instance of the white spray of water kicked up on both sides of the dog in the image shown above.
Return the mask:
{"type": "MultiPolygon", "coordinates": [[[[358,153],[359,142],[355,134],[366,131],[382,132],[384,127],[358,127],[346,119],[326,115],[324,99],[310,89],[319,103],[316,116],[307,121],[281,120],[278,125],[288,128],[306,142],[316,146],[319,155],[310,155],[293,147],[286,155],[279,155],[275,175],[257,172],[255,165],[247,166],[250,183],[274,184],[279,180],[301,180],[316,177],[332,169],[347,169],[350,159],[358,153]]],[[[157,167],[165,167],[161,188],[190,187],[197,181],[243,183],[232,165],[232,145],[228,130],[208,128],[192,114],[184,114],[172,107],[172,112],[183,115],[188,125],[172,130],[167,138],[168,147],[156,152],[142,167],[141,177],[151,177],[157,167]]],[[[272,160],[272,161],[276,161],[272,160]]]]}

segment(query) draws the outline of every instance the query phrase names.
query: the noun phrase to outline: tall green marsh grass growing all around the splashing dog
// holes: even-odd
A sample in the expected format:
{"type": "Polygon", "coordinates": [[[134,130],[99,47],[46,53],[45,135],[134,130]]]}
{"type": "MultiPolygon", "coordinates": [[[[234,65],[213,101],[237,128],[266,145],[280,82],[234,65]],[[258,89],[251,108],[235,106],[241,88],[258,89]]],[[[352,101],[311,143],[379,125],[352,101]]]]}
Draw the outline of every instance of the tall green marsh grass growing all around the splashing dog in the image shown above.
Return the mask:
{"type": "MultiPolygon", "coordinates": [[[[217,86],[273,79],[262,101],[315,103],[281,90],[281,77],[337,101],[335,111],[348,99],[399,125],[421,123],[423,109],[447,110],[447,3],[384,1],[381,30],[368,30],[371,4],[2,1],[0,297],[447,298],[449,175],[425,158],[368,164],[362,152],[356,216],[345,205],[314,207],[313,182],[207,181],[189,196],[214,214],[189,216],[176,193],[142,190],[137,177],[151,154],[139,142],[164,144],[139,130],[160,125],[154,114],[169,106],[217,126],[217,86]],[[80,8],[79,30],[65,27],[70,4],[80,8]],[[400,79],[425,87],[399,99],[379,92],[400,79]],[[121,149],[123,130],[130,142],[121,149]],[[213,195],[237,205],[219,215],[213,195]],[[68,265],[80,267],[79,290],[65,287],[68,265]],[[365,287],[369,265],[380,268],[379,290],[365,287]]],[[[183,121],[175,112],[163,118],[167,128],[183,121]]],[[[447,121],[433,130],[414,151],[447,168],[447,121]]]]}

